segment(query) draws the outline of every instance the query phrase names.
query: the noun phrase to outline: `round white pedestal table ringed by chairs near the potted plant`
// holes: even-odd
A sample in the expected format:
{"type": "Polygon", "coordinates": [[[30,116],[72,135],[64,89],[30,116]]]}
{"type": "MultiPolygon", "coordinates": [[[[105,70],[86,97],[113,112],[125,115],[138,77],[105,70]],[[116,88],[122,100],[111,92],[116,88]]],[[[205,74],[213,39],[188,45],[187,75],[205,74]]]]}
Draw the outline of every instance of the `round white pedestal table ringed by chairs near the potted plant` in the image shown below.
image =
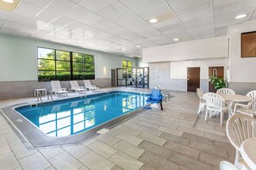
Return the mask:
{"type": "Polygon", "coordinates": [[[242,103],[242,102],[250,102],[253,98],[248,97],[246,95],[239,95],[239,94],[220,94],[225,101],[228,101],[228,115],[233,115],[233,104],[235,103],[242,103]]]}

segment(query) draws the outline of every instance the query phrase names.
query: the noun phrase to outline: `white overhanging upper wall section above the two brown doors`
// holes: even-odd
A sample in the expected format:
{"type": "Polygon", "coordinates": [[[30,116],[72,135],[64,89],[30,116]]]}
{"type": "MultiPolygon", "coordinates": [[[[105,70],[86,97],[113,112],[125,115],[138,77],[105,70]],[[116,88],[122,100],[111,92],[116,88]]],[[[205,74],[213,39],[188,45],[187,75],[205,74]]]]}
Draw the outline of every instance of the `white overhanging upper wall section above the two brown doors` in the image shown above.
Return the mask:
{"type": "Polygon", "coordinates": [[[144,63],[223,57],[228,57],[226,36],[155,46],[142,52],[144,63]]]}

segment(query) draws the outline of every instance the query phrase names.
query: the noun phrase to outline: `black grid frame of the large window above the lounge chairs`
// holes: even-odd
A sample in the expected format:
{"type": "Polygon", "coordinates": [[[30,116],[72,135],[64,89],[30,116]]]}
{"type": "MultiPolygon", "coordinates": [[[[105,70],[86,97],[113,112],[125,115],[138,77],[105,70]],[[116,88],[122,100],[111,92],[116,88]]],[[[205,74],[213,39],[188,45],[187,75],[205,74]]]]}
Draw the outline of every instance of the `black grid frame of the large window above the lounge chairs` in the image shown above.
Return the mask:
{"type": "Polygon", "coordinates": [[[42,47],[42,46],[37,46],[37,81],[38,82],[50,82],[52,81],[51,78],[49,78],[49,80],[46,80],[46,81],[41,81],[40,80],[40,72],[54,72],[54,78],[53,80],[58,80],[58,72],[69,72],[69,79],[66,79],[66,80],[62,80],[62,81],[71,81],[71,80],[82,80],[82,79],[75,79],[74,78],[74,73],[83,73],[83,80],[95,80],[95,55],[92,55],[92,54],[85,54],[85,53],[82,53],[82,52],[69,52],[69,61],[67,60],[60,60],[60,59],[57,59],[57,51],[59,52],[69,52],[69,51],[66,51],[66,50],[59,50],[59,49],[54,49],[54,48],[47,48],[47,47],[42,47]],[[52,50],[54,52],[54,58],[53,59],[46,59],[46,58],[39,58],[39,49],[47,49],[47,50],[52,50]],[[83,55],[83,62],[76,62],[76,61],[73,61],[73,53],[78,53],[78,54],[82,54],[83,55]],[[85,55],[87,56],[91,56],[93,58],[93,62],[90,62],[90,63],[86,63],[85,61],[85,55]],[[48,60],[48,61],[53,61],[54,62],[54,70],[40,70],[39,69],[39,61],[41,60],[48,60]],[[69,70],[57,70],[57,62],[66,62],[69,64],[70,66],[70,69],[69,70]],[[78,70],[73,70],[73,64],[74,63],[78,63],[78,64],[83,64],[83,71],[78,71],[78,70]],[[86,64],[93,64],[93,70],[90,70],[88,72],[86,72],[85,70],[85,65],[86,64]],[[86,76],[86,73],[89,73],[91,74],[91,78],[88,78],[86,76]]]}

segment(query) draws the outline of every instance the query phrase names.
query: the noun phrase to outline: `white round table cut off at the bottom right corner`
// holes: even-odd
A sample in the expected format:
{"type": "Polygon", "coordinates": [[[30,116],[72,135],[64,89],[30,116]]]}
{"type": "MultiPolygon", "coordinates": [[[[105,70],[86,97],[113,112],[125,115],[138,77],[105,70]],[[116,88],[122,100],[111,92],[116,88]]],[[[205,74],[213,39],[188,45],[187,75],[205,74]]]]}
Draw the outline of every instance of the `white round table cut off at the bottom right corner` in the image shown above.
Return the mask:
{"type": "Polygon", "coordinates": [[[250,168],[256,169],[256,137],[248,138],[241,144],[240,154],[250,168]]]}

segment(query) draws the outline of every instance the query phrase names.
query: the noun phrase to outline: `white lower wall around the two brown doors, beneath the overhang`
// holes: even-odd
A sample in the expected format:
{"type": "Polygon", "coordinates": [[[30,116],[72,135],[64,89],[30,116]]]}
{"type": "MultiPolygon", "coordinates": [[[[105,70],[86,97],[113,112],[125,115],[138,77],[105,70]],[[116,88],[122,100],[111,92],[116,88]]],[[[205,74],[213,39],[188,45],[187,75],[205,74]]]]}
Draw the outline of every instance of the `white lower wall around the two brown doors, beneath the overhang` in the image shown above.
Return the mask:
{"type": "MultiPolygon", "coordinates": [[[[200,79],[209,78],[209,67],[224,66],[225,70],[228,66],[228,58],[213,58],[193,61],[170,62],[170,78],[186,79],[188,67],[200,67],[200,79]]],[[[225,71],[226,73],[227,71],[225,71]]]]}

